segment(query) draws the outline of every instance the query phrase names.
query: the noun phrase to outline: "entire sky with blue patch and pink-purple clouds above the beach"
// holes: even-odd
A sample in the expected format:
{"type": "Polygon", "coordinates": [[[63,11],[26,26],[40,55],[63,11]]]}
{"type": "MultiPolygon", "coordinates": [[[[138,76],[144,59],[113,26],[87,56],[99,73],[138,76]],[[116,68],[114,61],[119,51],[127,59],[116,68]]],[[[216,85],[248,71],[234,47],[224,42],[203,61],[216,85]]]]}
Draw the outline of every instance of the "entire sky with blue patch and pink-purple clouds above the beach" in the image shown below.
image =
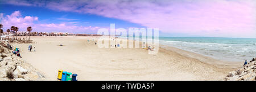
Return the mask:
{"type": "Polygon", "coordinates": [[[159,28],[160,36],[256,38],[254,0],[0,0],[3,30],[97,33],[97,29],[159,28]]]}

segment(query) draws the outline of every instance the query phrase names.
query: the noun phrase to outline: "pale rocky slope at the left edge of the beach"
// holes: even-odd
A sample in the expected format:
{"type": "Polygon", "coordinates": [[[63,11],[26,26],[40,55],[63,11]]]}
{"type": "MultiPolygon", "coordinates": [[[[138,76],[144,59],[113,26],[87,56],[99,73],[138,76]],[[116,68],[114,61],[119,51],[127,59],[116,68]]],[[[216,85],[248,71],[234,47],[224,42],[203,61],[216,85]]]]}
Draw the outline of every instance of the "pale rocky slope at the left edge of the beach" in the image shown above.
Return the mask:
{"type": "Polygon", "coordinates": [[[5,41],[1,41],[0,44],[0,81],[44,80],[44,75],[13,54],[5,41]]]}

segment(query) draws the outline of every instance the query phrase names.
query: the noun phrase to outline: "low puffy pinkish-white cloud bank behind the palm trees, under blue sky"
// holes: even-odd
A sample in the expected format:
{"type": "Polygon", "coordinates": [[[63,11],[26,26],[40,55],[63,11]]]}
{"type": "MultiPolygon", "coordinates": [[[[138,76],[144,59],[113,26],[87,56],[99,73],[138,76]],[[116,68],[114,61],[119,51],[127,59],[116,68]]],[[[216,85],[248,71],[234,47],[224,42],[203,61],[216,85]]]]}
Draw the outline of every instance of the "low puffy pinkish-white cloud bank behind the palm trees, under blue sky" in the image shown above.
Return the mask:
{"type": "MultiPolygon", "coordinates": [[[[60,23],[60,24],[35,24],[35,21],[39,21],[36,16],[24,16],[20,14],[20,11],[14,11],[11,15],[0,14],[1,24],[3,29],[10,29],[11,26],[19,27],[19,31],[26,31],[27,27],[31,26],[34,31],[38,32],[70,32],[70,33],[97,33],[99,27],[82,27],[72,25],[72,23],[60,23]]],[[[33,31],[32,30],[32,31],[33,31]]]]}

